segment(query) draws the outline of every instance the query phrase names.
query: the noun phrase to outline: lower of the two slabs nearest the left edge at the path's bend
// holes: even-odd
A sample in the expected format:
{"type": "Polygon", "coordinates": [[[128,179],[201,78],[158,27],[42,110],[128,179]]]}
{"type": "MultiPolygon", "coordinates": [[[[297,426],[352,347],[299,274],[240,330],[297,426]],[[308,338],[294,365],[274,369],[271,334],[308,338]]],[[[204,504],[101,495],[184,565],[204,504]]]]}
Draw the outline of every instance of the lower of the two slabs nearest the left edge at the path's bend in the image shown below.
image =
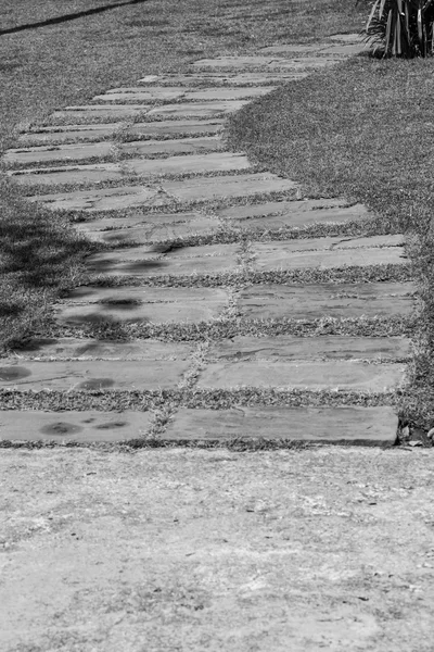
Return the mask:
{"type": "Polygon", "coordinates": [[[99,184],[122,179],[125,174],[117,163],[95,163],[65,167],[39,167],[8,173],[16,184],[25,186],[56,186],[75,184],[99,184]]]}

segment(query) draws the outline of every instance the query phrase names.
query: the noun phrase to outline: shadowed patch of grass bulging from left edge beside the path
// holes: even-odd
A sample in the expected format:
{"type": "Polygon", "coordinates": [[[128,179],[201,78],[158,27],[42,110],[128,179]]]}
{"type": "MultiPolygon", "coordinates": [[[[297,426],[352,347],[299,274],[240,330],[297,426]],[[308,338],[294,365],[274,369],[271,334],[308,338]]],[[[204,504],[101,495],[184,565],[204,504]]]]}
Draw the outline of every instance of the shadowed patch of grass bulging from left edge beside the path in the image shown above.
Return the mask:
{"type": "Polygon", "coordinates": [[[79,283],[94,251],[66,217],[26,202],[0,177],[0,350],[46,335],[53,301],[79,283]]]}

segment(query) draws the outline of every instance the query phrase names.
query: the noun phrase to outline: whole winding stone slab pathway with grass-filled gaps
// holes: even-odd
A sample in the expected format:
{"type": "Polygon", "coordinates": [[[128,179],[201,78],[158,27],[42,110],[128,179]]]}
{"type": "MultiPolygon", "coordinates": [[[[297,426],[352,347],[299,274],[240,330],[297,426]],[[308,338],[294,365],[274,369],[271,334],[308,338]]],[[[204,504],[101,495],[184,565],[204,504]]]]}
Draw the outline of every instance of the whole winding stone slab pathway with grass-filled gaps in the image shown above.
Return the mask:
{"type": "Polygon", "coordinates": [[[2,360],[1,438],[396,441],[403,236],[225,145],[229,114],[360,49],[346,35],[200,60],[21,136],[8,174],[105,249],[47,339],[2,360]]]}

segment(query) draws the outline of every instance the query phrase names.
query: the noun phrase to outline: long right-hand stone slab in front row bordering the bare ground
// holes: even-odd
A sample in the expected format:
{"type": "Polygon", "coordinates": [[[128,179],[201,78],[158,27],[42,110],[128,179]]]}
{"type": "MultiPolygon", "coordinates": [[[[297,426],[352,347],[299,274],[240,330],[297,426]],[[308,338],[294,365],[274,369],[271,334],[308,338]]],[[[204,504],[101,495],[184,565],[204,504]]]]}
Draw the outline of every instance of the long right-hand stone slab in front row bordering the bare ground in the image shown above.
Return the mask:
{"type": "Polygon", "coordinates": [[[392,408],[268,408],[189,410],[169,423],[168,441],[257,439],[393,446],[398,417],[392,408]]]}

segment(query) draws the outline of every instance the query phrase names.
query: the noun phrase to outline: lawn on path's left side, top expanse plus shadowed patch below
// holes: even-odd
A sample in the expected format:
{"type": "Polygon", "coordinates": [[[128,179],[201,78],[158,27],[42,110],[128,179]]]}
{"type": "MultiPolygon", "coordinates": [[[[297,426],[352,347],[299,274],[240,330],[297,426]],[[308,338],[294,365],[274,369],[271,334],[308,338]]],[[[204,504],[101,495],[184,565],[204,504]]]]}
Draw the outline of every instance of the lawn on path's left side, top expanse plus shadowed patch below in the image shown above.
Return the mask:
{"type": "MultiPolygon", "coordinates": [[[[0,0],[0,154],[20,130],[107,88],[201,57],[354,32],[365,13],[348,0],[0,0]]],[[[0,351],[43,331],[90,248],[67,216],[20,192],[2,180],[0,351]]]]}

